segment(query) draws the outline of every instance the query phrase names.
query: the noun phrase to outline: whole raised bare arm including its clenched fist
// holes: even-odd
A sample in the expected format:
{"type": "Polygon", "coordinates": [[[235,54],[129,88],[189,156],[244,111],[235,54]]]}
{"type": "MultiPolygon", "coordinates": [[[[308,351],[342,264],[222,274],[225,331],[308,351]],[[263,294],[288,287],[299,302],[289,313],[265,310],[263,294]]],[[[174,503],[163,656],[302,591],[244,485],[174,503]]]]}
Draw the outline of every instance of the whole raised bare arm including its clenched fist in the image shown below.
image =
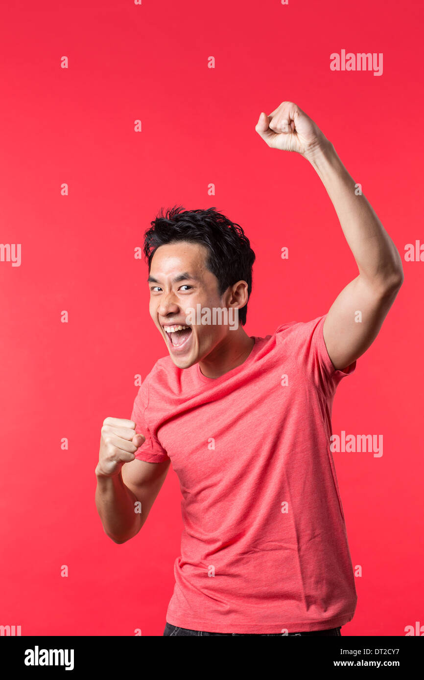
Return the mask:
{"type": "Polygon", "coordinates": [[[323,326],[331,362],[344,370],[376,339],[404,280],[402,259],[333,144],[296,104],[284,101],[270,116],[262,113],[256,131],[271,148],[310,161],[357,263],[359,274],[333,302],[323,326]]]}

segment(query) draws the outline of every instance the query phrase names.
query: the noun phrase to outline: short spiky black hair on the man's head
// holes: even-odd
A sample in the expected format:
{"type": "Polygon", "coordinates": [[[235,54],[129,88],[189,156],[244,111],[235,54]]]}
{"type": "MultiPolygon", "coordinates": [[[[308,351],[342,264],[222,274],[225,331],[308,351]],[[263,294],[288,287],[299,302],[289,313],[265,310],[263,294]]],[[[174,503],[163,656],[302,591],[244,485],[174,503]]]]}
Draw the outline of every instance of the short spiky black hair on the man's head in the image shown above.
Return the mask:
{"type": "MultiPolygon", "coordinates": [[[[204,210],[184,210],[182,206],[163,208],[144,233],[144,255],[150,265],[160,245],[189,241],[201,243],[208,249],[206,268],[218,279],[221,296],[229,286],[246,281],[248,298],[252,291],[252,266],[255,253],[240,224],[231,222],[214,207],[204,210]],[[183,212],[182,212],[183,211],[183,212]]],[[[242,326],[246,323],[247,303],[238,310],[242,326]]]]}

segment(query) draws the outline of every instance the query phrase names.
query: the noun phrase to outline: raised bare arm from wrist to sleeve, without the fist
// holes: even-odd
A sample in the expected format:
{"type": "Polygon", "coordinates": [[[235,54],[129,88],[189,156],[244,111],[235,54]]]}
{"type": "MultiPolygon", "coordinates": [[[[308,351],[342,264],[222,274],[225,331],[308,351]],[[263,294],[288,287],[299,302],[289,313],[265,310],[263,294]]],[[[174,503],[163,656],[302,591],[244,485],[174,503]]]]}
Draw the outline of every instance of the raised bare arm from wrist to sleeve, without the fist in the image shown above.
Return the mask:
{"type": "Polygon", "coordinates": [[[333,145],[308,158],[318,173],[340,220],[359,275],[340,292],[324,322],[331,362],[346,369],[370,347],[404,280],[402,258],[333,145]]]}

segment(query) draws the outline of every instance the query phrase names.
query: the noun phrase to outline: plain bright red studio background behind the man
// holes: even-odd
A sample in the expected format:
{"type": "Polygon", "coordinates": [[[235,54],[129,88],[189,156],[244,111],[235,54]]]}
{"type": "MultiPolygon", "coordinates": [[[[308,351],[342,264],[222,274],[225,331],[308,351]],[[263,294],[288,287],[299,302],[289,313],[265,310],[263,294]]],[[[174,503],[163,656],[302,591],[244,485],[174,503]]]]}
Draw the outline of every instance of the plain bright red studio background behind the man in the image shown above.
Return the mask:
{"type": "MultiPolygon", "coordinates": [[[[423,6],[13,5],[3,4],[0,36],[1,242],[21,243],[22,263],[0,262],[0,624],[22,635],[161,635],[178,479],[171,468],[146,526],[123,545],[103,533],[94,500],[104,418],[130,417],[134,376],[167,354],[134,249],[162,205],[215,206],[257,254],[249,335],[327,312],[357,267],[312,166],[255,132],[261,111],[284,100],[331,139],[402,257],[424,240],[423,6]],[[330,71],[342,49],[382,52],[382,75],[330,71]]],[[[333,432],[384,438],[381,458],[334,454],[363,570],[344,635],[424,624],[423,270],[404,262],[404,286],[333,408],[333,432]]]]}

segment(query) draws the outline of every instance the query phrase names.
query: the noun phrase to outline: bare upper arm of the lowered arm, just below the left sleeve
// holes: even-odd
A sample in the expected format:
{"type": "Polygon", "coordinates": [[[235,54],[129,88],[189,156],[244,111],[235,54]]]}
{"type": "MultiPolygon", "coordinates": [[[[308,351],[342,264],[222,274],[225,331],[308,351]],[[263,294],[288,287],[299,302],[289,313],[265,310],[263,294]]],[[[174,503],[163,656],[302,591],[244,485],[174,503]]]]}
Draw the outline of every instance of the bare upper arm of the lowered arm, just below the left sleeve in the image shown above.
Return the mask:
{"type": "Polygon", "coordinates": [[[146,522],[150,508],[161,490],[170,462],[171,460],[168,459],[160,463],[148,463],[134,458],[123,465],[123,482],[142,504],[140,529],[146,522]]]}

